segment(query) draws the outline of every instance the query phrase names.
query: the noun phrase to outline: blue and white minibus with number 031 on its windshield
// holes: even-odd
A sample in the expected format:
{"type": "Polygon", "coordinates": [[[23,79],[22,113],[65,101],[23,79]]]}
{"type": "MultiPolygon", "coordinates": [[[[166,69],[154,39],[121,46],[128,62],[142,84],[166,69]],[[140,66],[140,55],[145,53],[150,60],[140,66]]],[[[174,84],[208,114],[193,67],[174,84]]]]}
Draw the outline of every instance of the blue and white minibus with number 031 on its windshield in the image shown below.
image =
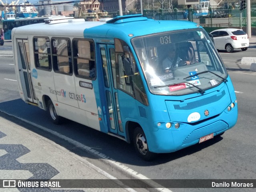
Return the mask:
{"type": "Polygon", "coordinates": [[[56,124],[67,118],[132,143],[144,160],[236,124],[230,76],[196,23],[49,18],[14,28],[12,42],[22,100],[56,124]],[[177,64],[166,69],[174,47],[177,64]]]}

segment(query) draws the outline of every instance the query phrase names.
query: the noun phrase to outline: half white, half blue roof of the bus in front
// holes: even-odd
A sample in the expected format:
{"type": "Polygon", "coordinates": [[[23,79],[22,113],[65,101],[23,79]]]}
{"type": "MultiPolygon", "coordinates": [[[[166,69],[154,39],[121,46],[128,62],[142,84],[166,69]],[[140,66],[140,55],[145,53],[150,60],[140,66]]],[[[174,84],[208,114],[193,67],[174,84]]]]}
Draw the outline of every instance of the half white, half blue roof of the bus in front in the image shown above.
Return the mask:
{"type": "Polygon", "coordinates": [[[54,24],[31,24],[15,28],[13,34],[35,36],[77,36],[98,38],[133,38],[171,30],[198,28],[196,23],[177,20],[152,20],[146,17],[116,18],[107,22],[67,19],[54,24]],[[129,35],[129,34],[132,34],[129,35]],[[129,35],[129,36],[128,36],[129,35]]]}

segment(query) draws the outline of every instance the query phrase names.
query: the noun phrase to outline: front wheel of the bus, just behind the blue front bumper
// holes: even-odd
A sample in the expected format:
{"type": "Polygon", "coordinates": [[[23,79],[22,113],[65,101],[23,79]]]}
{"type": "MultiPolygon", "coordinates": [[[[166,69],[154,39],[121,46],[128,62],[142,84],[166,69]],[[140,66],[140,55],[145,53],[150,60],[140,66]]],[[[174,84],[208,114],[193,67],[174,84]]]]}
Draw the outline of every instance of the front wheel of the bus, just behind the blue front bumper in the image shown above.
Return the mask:
{"type": "Polygon", "coordinates": [[[148,150],[148,144],[146,136],[140,127],[136,127],[133,132],[133,145],[136,154],[145,161],[153,160],[156,157],[156,153],[148,150]]]}

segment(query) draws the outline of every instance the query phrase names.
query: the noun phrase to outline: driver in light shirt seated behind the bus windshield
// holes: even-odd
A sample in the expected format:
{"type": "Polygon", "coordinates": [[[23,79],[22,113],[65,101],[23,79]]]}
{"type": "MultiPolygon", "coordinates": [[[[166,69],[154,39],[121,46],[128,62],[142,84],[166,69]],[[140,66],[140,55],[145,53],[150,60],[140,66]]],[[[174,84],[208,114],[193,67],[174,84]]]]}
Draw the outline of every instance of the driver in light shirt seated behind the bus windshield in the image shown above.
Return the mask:
{"type": "Polygon", "coordinates": [[[178,56],[176,45],[171,44],[168,55],[163,61],[163,68],[165,72],[172,70],[174,67],[190,65],[189,61],[184,61],[178,56]]]}

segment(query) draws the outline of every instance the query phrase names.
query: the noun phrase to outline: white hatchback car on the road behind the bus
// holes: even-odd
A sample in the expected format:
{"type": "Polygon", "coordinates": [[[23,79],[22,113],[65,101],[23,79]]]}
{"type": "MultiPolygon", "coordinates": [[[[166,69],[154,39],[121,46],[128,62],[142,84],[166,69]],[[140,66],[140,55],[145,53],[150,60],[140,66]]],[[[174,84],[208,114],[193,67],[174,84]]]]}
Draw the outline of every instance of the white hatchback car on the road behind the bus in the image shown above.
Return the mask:
{"type": "Polygon", "coordinates": [[[213,36],[216,49],[224,49],[233,52],[234,49],[246,51],[249,46],[248,35],[242,29],[225,28],[210,32],[213,36]]]}

